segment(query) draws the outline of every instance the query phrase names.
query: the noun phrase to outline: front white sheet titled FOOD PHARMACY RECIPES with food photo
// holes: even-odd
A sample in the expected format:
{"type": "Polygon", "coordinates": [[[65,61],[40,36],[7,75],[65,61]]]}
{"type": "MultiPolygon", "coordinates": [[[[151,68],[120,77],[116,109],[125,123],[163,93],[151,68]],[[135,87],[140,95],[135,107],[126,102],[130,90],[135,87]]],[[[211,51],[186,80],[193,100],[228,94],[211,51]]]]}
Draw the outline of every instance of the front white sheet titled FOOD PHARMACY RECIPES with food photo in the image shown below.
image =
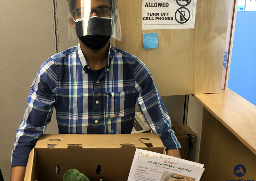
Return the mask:
{"type": "Polygon", "coordinates": [[[161,157],[138,156],[128,181],[176,181],[185,178],[199,181],[204,168],[161,157]]]}

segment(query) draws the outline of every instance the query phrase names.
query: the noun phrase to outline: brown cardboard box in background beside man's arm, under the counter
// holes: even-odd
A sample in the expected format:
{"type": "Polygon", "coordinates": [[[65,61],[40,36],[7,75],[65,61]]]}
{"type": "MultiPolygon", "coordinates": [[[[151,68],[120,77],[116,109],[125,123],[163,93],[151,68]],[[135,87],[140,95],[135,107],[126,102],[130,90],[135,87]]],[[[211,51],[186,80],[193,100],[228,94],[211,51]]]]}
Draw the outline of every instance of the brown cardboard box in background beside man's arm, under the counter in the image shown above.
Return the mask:
{"type": "Polygon", "coordinates": [[[192,129],[189,126],[183,125],[181,123],[179,124],[171,123],[171,124],[172,124],[172,130],[174,131],[175,136],[177,137],[181,146],[181,149],[180,149],[181,158],[188,160],[189,136],[197,136],[197,135],[194,131],[192,131],[192,129]]]}

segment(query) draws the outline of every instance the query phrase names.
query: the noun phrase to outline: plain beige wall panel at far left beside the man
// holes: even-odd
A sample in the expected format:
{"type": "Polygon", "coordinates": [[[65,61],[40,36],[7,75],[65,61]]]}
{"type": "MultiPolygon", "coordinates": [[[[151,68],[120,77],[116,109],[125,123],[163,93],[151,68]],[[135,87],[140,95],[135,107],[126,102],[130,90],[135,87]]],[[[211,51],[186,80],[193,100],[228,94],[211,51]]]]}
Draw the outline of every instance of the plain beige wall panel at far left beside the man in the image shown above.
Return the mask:
{"type": "Polygon", "coordinates": [[[42,63],[55,54],[52,12],[52,0],[1,1],[0,168],[5,180],[30,86],[42,63]]]}

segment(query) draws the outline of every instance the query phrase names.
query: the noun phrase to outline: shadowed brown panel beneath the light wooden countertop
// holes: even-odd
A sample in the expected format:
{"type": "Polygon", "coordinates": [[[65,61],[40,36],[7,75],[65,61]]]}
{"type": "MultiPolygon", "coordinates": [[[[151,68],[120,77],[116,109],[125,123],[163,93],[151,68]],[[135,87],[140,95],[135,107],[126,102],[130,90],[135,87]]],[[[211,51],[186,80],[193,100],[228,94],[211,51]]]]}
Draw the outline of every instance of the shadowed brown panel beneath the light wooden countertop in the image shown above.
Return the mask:
{"type": "MultiPolygon", "coordinates": [[[[256,155],[204,108],[199,163],[204,164],[201,180],[256,180],[256,155]],[[246,168],[236,177],[234,167],[246,168]]],[[[234,123],[236,124],[236,123],[234,123]]]]}

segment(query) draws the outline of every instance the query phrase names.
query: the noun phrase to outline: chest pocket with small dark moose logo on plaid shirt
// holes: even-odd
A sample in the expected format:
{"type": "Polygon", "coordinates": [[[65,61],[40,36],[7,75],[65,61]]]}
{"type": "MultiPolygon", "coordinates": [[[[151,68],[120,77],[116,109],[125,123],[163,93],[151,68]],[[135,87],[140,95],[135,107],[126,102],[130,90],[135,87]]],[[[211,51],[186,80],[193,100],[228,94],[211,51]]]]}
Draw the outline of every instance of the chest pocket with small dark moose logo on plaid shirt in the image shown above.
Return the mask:
{"type": "Polygon", "coordinates": [[[135,94],[132,91],[107,92],[105,99],[105,117],[122,118],[135,109],[135,94]],[[134,100],[134,101],[132,101],[134,100]]]}

